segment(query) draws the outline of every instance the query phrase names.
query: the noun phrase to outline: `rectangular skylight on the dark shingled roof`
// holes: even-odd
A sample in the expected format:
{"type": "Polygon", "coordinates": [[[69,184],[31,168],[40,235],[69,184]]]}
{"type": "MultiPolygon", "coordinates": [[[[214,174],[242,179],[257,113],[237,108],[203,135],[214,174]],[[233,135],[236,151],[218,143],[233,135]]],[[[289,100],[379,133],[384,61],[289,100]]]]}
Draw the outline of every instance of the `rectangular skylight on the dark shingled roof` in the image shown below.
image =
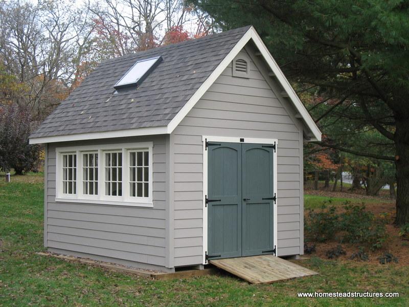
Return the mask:
{"type": "Polygon", "coordinates": [[[137,86],[141,84],[161,61],[162,57],[157,56],[136,62],[113,87],[118,90],[123,87],[137,86]]]}

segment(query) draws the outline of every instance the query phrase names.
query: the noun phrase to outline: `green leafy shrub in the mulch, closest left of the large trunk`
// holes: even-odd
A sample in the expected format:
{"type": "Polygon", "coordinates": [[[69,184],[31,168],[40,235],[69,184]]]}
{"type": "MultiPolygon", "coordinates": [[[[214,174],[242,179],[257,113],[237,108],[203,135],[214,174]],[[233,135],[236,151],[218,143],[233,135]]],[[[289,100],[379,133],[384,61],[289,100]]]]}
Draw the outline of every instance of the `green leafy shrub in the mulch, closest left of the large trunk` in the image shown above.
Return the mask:
{"type": "Polygon", "coordinates": [[[342,240],[365,244],[371,249],[381,248],[387,239],[385,219],[376,218],[364,205],[346,204],[344,209],[339,218],[339,230],[344,233],[342,240]]]}

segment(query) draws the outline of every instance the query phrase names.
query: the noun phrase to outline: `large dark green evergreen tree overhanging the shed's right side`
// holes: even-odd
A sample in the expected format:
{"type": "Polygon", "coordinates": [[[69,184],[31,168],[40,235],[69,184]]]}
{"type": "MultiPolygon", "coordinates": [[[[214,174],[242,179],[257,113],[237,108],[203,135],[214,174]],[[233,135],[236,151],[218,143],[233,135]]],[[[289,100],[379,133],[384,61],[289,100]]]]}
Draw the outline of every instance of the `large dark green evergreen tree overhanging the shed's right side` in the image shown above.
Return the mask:
{"type": "MultiPolygon", "coordinates": [[[[320,92],[326,115],[375,129],[394,155],[322,143],[393,161],[396,223],[409,222],[409,2],[383,0],[196,0],[222,29],[253,24],[286,75],[320,92]],[[329,99],[336,102],[326,103],[329,99]]],[[[352,135],[355,130],[350,131],[352,135]]]]}

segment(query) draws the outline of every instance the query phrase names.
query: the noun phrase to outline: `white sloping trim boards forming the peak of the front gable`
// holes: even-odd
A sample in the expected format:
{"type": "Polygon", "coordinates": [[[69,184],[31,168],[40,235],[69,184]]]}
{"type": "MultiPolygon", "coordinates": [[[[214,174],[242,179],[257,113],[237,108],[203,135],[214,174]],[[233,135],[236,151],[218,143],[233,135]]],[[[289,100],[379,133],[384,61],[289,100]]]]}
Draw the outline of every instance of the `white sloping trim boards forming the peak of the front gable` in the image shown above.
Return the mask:
{"type": "Polygon", "coordinates": [[[229,52],[229,54],[220,62],[218,67],[213,71],[213,73],[206,79],[205,82],[199,87],[196,93],[189,99],[189,101],[180,109],[172,121],[168,124],[168,130],[170,133],[176,128],[176,126],[185,118],[189,111],[194,107],[197,101],[209,90],[209,87],[216,81],[216,79],[221,75],[221,73],[228,67],[229,63],[237,56],[237,54],[244,48],[246,43],[253,39],[260,53],[264,57],[265,61],[269,65],[270,69],[275,73],[277,79],[283,86],[285,92],[288,94],[292,103],[297,109],[297,112],[301,115],[302,119],[305,121],[307,127],[311,130],[313,138],[311,141],[321,141],[321,131],[315,124],[314,120],[308,113],[304,104],[301,102],[300,98],[297,96],[296,92],[292,88],[291,84],[288,82],[287,78],[284,76],[283,72],[279,68],[277,62],[271,56],[267,47],[264,45],[263,40],[258,35],[254,27],[248,29],[248,31],[243,35],[242,38],[236,43],[236,46],[229,52]]]}

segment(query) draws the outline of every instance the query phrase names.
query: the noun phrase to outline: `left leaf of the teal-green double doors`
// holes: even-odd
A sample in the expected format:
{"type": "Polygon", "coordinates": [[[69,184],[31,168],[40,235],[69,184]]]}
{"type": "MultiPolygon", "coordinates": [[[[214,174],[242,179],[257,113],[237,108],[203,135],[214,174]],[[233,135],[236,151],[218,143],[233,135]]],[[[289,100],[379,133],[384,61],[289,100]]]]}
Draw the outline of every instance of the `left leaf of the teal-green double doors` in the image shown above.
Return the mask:
{"type": "MultiPolygon", "coordinates": [[[[208,147],[208,254],[241,256],[241,144],[208,147]]],[[[214,257],[217,258],[217,257],[214,257]]]]}

